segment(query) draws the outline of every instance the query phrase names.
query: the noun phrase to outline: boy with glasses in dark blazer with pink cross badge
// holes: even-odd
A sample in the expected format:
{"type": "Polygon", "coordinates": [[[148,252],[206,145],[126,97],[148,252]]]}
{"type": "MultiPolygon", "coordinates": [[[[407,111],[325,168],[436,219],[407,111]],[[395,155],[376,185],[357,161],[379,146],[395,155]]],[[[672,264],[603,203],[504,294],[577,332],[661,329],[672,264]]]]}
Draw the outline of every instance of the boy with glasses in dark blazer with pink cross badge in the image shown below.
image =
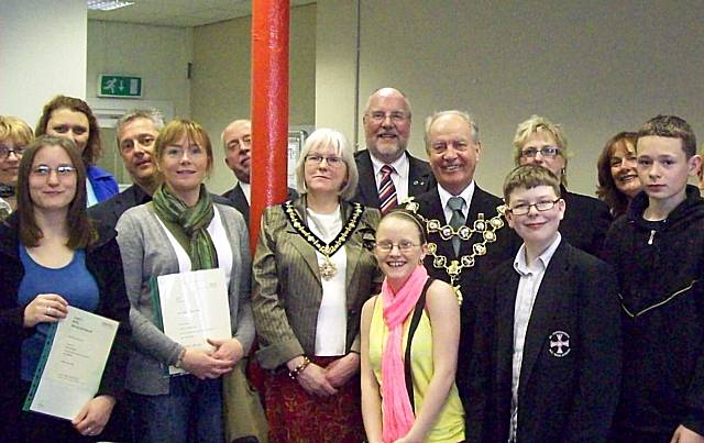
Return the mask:
{"type": "Polygon", "coordinates": [[[566,206],[549,169],[514,169],[504,195],[524,244],[493,273],[459,374],[468,441],[606,442],[622,366],[614,272],[560,235],[566,206]]]}

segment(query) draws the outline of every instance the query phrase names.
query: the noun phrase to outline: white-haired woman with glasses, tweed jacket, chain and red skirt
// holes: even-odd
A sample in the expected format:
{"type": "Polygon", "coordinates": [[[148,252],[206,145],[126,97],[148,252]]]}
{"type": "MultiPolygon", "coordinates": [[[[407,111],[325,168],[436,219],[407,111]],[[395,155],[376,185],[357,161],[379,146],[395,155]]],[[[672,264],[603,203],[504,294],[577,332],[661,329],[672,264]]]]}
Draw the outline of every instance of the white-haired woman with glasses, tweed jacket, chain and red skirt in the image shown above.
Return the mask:
{"type": "Polygon", "coordinates": [[[300,196],[264,211],[253,263],[270,440],[359,442],[360,312],[381,283],[380,214],[346,201],[358,171],[337,131],[306,140],[296,178],[300,196]]]}

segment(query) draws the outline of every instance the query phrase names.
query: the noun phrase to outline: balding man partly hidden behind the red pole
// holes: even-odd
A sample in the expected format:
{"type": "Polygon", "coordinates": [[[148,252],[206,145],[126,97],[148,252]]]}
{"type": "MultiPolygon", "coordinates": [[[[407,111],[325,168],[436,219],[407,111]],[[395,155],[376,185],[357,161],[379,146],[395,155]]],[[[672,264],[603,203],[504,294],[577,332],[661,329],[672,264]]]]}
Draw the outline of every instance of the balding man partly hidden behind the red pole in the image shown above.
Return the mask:
{"type": "MultiPolygon", "coordinates": [[[[250,201],[252,189],[250,186],[250,162],[252,160],[252,122],[250,120],[235,120],[222,131],[222,145],[224,146],[224,163],[228,165],[238,184],[234,188],[224,192],[222,197],[229,199],[232,206],[244,215],[244,222],[250,228],[250,201]]],[[[288,199],[296,198],[295,189],[288,188],[288,199]]]]}

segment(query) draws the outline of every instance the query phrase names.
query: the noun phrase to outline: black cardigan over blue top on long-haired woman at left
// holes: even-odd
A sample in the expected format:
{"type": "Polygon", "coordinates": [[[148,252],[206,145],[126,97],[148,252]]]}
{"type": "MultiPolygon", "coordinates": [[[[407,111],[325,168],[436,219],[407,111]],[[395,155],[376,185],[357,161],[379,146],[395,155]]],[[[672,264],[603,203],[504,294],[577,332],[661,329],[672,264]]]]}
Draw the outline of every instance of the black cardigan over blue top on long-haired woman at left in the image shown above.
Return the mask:
{"type": "MultiPolygon", "coordinates": [[[[121,400],[128,353],[131,346],[130,302],[124,289],[122,259],[116,232],[98,226],[99,239],[86,250],[86,266],[98,284],[100,300],[96,313],[120,322],[110,357],[106,364],[97,395],[110,395],[121,400]]],[[[20,378],[22,340],[33,333],[23,326],[24,308],[18,306],[18,291],[24,267],[19,255],[16,212],[0,223],[0,441],[12,441],[19,429],[18,417],[26,395],[20,378]],[[8,427],[9,425],[9,427],[8,427]],[[14,429],[14,431],[12,431],[14,429]]]]}

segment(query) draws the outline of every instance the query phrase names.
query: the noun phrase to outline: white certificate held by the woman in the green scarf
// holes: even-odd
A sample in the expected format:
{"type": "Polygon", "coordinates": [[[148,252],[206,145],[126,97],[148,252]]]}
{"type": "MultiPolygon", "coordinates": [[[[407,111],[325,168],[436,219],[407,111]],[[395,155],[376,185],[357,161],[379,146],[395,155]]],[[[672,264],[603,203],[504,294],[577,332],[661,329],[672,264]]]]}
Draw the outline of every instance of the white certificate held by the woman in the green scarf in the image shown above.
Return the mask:
{"type": "MultiPolygon", "coordinates": [[[[157,307],[164,334],[185,347],[211,351],[207,339],[232,339],[230,302],[224,272],[191,270],[157,277],[157,307]]],[[[183,369],[169,366],[169,374],[183,369]]]]}

